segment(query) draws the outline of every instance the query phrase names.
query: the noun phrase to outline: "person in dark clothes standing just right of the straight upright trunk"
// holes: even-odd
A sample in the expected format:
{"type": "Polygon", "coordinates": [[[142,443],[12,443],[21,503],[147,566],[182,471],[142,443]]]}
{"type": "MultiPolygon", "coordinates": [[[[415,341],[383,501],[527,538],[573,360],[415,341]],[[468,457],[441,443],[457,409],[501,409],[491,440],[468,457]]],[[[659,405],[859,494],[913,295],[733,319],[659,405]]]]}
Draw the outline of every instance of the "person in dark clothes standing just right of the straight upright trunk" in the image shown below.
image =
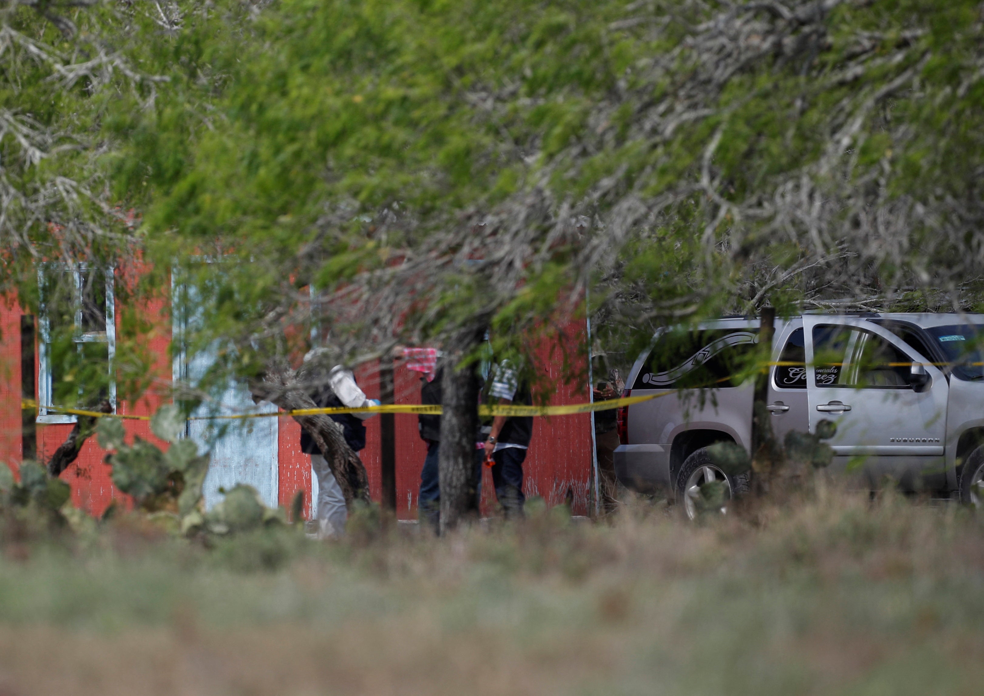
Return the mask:
{"type": "MultiPolygon", "coordinates": [[[[521,383],[515,369],[506,361],[501,362],[492,375],[488,395],[498,399],[500,405],[532,404],[528,385],[521,383]]],[[[485,440],[485,454],[491,455],[492,483],[496,498],[502,505],[506,518],[523,516],[523,462],[533,435],[533,419],[530,416],[497,415],[485,440]]]]}

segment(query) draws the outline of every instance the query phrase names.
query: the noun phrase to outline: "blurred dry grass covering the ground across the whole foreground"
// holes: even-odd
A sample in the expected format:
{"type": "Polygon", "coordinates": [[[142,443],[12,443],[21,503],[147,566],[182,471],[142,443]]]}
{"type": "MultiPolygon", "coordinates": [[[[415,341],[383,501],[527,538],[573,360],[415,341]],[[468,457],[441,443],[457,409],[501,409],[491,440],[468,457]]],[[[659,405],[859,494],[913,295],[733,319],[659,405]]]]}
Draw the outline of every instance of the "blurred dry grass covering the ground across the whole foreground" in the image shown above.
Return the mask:
{"type": "Polygon", "coordinates": [[[561,512],[211,550],[8,524],[0,695],[984,693],[984,523],[955,505],[821,486],[704,525],[561,512]]]}

